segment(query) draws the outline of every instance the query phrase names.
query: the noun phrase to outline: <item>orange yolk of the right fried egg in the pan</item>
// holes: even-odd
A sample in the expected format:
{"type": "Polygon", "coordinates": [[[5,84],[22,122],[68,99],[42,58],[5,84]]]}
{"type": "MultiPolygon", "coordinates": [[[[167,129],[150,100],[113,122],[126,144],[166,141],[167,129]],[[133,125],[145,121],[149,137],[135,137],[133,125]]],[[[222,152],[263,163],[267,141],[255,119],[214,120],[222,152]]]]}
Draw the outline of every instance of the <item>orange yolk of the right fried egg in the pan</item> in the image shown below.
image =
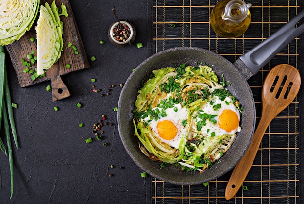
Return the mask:
{"type": "Polygon", "coordinates": [[[219,116],[218,124],[221,129],[230,133],[239,125],[238,115],[232,110],[225,109],[219,116]]]}

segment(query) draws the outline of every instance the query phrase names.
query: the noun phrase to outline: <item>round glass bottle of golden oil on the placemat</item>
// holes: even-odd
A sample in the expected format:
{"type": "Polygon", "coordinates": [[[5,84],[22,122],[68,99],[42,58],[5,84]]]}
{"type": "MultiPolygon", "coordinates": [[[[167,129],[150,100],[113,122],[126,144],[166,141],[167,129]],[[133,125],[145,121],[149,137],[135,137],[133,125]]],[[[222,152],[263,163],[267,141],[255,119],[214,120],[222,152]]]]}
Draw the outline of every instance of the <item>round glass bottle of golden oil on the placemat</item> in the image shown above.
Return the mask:
{"type": "Polygon", "coordinates": [[[248,29],[251,3],[242,0],[221,0],[211,11],[210,25],[221,37],[234,38],[248,29]]]}

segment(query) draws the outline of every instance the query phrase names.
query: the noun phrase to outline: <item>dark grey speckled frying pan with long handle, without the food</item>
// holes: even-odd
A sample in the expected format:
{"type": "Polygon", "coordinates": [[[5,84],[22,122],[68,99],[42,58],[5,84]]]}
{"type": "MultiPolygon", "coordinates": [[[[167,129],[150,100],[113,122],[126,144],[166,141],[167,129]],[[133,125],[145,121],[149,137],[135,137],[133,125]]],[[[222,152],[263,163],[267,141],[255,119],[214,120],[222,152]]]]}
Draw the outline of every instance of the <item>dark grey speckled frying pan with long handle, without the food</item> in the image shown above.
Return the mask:
{"type": "Polygon", "coordinates": [[[158,52],[142,62],[127,79],[118,101],[118,131],[122,143],[133,161],[151,176],[178,185],[193,185],[215,180],[231,170],[247,150],[255,128],[255,104],[247,80],[296,36],[304,32],[304,25],[296,26],[302,17],[304,17],[304,11],[262,43],[240,56],[233,64],[212,51],[195,47],[168,49],[158,52]],[[182,171],[174,165],[160,169],[159,162],[152,162],[141,153],[138,147],[139,140],[134,135],[132,119],[137,90],[141,88],[141,80],[149,76],[154,69],[173,66],[175,63],[195,66],[200,62],[211,65],[219,77],[223,74],[225,80],[231,83],[231,86],[228,87],[229,91],[236,96],[244,108],[241,118],[242,130],[219,162],[210,169],[204,170],[202,174],[195,171],[182,171]]]}

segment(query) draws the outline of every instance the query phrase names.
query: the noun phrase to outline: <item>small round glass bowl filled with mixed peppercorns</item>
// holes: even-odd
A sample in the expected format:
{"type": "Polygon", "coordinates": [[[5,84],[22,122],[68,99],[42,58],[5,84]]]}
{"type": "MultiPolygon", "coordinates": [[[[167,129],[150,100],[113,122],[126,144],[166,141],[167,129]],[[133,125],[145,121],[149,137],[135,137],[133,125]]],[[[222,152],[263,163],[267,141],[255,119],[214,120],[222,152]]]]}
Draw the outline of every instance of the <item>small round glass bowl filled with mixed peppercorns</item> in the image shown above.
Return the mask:
{"type": "Polygon", "coordinates": [[[109,31],[108,31],[109,39],[113,45],[118,46],[118,47],[125,47],[128,45],[131,45],[133,43],[133,41],[135,39],[135,35],[136,35],[135,28],[132,25],[132,23],[129,23],[126,20],[120,20],[120,23],[122,25],[122,28],[127,27],[130,29],[129,37],[127,39],[125,39],[124,41],[117,40],[114,38],[115,37],[115,33],[114,33],[115,28],[118,28],[118,29],[120,28],[119,22],[117,21],[117,22],[112,23],[109,28],[109,31]],[[114,35],[113,35],[113,33],[114,33],[114,35]]]}

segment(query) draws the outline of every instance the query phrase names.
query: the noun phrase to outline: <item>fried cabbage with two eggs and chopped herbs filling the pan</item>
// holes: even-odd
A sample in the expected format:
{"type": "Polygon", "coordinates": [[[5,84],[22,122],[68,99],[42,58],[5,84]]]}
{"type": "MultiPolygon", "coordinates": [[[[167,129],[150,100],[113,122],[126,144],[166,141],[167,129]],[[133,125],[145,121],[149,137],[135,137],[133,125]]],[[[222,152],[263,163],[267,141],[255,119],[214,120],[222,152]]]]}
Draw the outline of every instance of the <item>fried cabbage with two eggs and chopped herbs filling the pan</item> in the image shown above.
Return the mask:
{"type": "Polygon", "coordinates": [[[211,167],[241,130],[242,107],[218,82],[211,66],[153,70],[138,90],[134,109],[135,135],[141,151],[154,161],[182,170],[211,167]]]}

